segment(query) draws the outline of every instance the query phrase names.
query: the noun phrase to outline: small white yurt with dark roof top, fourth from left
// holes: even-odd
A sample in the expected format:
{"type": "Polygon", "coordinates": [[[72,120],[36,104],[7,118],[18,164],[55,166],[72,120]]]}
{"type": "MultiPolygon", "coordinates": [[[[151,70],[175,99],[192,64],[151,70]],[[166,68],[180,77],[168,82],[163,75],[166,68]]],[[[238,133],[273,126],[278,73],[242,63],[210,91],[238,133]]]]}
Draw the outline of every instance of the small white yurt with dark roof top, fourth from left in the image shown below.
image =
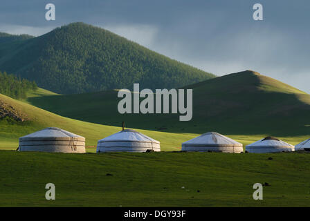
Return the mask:
{"type": "Polygon", "coordinates": [[[276,153],[294,151],[294,146],[275,137],[266,137],[246,146],[248,153],[276,153]]]}

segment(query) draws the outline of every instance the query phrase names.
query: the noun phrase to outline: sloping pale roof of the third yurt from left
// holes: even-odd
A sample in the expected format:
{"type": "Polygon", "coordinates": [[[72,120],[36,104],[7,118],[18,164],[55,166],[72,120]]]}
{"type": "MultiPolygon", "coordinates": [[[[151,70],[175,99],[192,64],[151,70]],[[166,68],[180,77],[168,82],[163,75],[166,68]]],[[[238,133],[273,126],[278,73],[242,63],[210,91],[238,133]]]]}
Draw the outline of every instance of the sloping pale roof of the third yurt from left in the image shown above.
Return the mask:
{"type": "Polygon", "coordinates": [[[184,142],[183,145],[191,146],[243,146],[241,143],[236,142],[229,137],[221,135],[216,132],[203,133],[199,137],[184,142]]]}

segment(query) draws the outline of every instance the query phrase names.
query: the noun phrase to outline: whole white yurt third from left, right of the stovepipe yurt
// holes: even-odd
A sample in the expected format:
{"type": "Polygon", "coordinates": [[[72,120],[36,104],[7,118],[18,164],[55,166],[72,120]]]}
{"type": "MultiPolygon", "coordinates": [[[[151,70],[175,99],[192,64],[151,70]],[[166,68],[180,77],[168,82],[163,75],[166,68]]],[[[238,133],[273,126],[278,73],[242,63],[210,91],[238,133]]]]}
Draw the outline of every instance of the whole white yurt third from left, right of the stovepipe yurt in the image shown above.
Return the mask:
{"type": "Polygon", "coordinates": [[[243,145],[229,137],[215,132],[203,133],[182,144],[182,151],[241,153],[243,145]]]}

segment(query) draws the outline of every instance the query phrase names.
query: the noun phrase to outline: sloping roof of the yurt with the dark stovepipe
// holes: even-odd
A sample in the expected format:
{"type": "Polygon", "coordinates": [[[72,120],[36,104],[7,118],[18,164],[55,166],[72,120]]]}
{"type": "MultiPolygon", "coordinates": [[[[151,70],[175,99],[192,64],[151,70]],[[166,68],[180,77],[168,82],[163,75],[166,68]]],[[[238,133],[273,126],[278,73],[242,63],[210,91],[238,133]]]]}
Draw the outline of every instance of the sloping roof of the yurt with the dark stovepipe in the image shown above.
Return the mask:
{"type": "Polygon", "coordinates": [[[98,142],[153,142],[159,144],[160,142],[157,140],[154,140],[151,137],[148,137],[147,135],[144,135],[143,133],[139,133],[138,131],[134,131],[131,129],[126,129],[123,131],[120,131],[118,133],[114,133],[113,135],[110,135],[109,137],[105,137],[102,140],[99,140],[98,142]]]}

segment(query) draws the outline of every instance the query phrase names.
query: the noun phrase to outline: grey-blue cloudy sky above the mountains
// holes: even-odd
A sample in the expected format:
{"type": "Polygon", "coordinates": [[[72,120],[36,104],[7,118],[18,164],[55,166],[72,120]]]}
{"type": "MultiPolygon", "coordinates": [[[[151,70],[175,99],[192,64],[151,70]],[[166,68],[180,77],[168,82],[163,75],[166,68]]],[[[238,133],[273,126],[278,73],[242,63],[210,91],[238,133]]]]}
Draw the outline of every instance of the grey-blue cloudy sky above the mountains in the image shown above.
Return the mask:
{"type": "Polygon", "coordinates": [[[256,70],[310,93],[310,1],[10,0],[0,32],[42,35],[75,21],[100,26],[216,75],[256,70]],[[56,20],[46,21],[54,3],[56,20]],[[253,20],[253,5],[264,21],[253,20]]]}

